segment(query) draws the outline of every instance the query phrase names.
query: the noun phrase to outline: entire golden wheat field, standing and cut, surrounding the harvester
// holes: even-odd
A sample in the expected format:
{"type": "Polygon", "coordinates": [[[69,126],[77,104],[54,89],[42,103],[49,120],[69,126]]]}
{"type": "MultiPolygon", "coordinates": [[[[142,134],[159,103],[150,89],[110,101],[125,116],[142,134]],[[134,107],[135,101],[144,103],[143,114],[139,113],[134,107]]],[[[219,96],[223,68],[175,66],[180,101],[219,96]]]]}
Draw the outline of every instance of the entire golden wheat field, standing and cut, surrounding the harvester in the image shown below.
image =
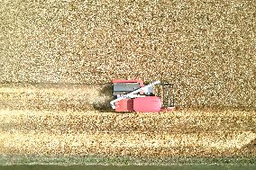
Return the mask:
{"type": "Polygon", "coordinates": [[[256,4],[0,2],[0,155],[255,157],[256,4]],[[113,78],[176,85],[116,113],[113,78]]]}

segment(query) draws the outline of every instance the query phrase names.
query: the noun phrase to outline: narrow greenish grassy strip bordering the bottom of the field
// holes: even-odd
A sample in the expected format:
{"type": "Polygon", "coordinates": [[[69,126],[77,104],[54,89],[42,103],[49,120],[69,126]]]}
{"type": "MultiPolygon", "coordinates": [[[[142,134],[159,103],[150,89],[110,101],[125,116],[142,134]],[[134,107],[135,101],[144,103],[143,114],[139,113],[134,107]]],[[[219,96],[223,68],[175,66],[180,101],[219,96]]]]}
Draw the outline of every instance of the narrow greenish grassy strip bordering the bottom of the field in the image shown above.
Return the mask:
{"type": "Polygon", "coordinates": [[[104,156],[0,156],[0,166],[173,166],[173,165],[236,165],[256,166],[256,157],[104,157],[104,156]]]}

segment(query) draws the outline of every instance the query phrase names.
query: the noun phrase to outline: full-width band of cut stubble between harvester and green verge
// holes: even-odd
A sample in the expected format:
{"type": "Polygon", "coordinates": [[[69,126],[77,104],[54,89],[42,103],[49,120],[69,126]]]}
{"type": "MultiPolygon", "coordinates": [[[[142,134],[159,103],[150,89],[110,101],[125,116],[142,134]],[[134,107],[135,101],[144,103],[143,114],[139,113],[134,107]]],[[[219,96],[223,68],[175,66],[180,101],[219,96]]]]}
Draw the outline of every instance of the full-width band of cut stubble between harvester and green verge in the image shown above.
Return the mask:
{"type": "Polygon", "coordinates": [[[255,155],[253,149],[241,151],[256,139],[255,112],[211,114],[183,110],[142,114],[1,110],[0,121],[2,154],[132,157],[255,155]],[[227,121],[225,116],[240,121],[224,126],[226,122],[222,121],[227,121]],[[247,117],[253,121],[247,121],[247,117]],[[195,121],[189,121],[192,119],[197,120],[196,129],[195,121]]]}

